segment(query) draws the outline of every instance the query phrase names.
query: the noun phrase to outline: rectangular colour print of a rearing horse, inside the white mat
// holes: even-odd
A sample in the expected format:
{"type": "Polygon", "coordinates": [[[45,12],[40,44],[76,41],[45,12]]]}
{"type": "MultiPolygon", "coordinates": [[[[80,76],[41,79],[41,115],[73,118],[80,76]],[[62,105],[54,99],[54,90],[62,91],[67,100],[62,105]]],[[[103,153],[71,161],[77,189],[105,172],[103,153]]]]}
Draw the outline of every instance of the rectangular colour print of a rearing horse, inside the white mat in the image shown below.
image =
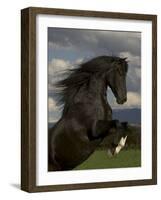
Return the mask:
{"type": "Polygon", "coordinates": [[[141,166],[141,33],[48,28],[50,170],[141,166]]]}

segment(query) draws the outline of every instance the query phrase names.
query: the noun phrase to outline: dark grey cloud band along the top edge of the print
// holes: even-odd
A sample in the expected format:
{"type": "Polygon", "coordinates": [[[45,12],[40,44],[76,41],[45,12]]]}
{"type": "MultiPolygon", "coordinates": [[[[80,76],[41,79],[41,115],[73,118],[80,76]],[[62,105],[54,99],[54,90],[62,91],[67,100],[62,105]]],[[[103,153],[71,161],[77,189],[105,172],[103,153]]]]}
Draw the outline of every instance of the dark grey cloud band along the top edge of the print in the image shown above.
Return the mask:
{"type": "Polygon", "coordinates": [[[49,28],[48,33],[49,44],[55,49],[92,51],[96,55],[118,55],[128,51],[140,55],[140,33],[136,32],[49,28]]]}

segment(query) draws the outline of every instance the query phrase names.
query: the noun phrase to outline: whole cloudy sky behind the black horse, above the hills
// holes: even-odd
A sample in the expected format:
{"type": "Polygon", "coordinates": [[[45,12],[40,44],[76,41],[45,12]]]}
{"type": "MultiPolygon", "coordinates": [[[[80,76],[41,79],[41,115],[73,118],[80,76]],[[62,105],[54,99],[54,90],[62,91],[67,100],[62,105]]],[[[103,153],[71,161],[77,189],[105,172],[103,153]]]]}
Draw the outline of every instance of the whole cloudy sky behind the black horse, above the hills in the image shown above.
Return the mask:
{"type": "Polygon", "coordinates": [[[62,72],[100,55],[127,57],[127,102],[118,105],[112,92],[108,101],[113,109],[141,107],[141,33],[101,30],[48,28],[48,105],[49,122],[57,121],[62,108],[56,104],[54,83],[62,72]]]}

